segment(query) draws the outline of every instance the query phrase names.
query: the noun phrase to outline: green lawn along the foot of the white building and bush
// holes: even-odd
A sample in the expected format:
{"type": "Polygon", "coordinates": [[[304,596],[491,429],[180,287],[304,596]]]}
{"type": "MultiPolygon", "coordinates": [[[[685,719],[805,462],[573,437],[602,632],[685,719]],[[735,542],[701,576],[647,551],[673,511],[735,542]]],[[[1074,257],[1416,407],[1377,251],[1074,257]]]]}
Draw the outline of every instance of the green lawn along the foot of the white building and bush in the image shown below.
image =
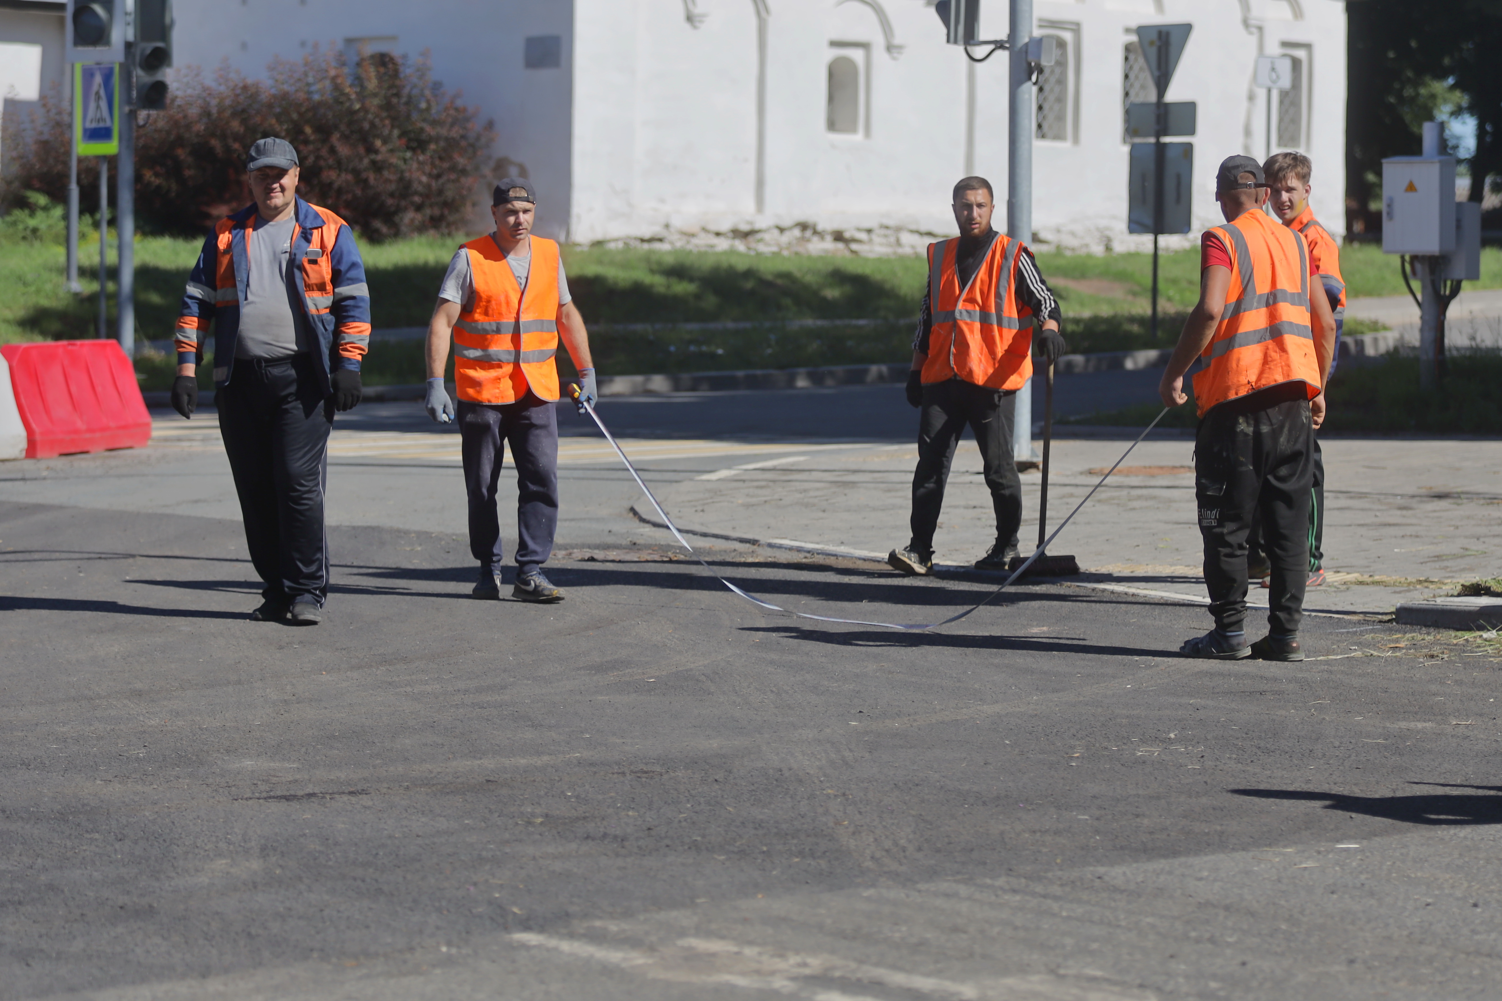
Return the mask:
{"type": "MultiPolygon", "coordinates": [[[[113,248],[113,233],[111,248],[113,248]]],[[[374,326],[427,326],[449,258],[463,237],[412,237],[365,243],[374,326]]],[[[63,290],[60,209],[12,212],[0,219],[0,342],[90,338],[98,296],[98,230],[86,219],[80,236],[84,291],[63,290]]],[[[200,242],[140,237],[137,338],[171,338],[183,282],[200,242]]],[[[110,317],[114,317],[114,254],[110,254],[110,317]]],[[[1199,294],[1199,254],[1161,257],[1158,335],[1148,324],[1152,257],[1148,254],[1038,255],[1065,314],[1071,351],[1170,347],[1182,315],[1199,294]]],[[[1352,296],[1403,294],[1397,261],[1371,245],[1341,251],[1352,296]]],[[[777,257],[739,252],[613,251],[565,248],[569,287],[595,326],[592,347],[605,372],[685,372],[901,362],[909,357],[913,320],[924,293],[919,257],[777,257]],[[786,327],[789,320],[880,320],[876,324],[786,327]],[[674,324],[736,321],[765,327],[685,330],[674,324]],[[610,324],[664,324],[655,330],[611,330],[610,324]]],[[[1502,287],[1502,251],[1482,251],[1482,278],[1467,287],[1502,287]]],[[[1355,323],[1352,333],[1361,332],[1355,323]]],[[[143,359],[147,383],[170,383],[168,359],[143,359]]],[[[366,381],[422,378],[418,344],[379,342],[366,381]]]]}

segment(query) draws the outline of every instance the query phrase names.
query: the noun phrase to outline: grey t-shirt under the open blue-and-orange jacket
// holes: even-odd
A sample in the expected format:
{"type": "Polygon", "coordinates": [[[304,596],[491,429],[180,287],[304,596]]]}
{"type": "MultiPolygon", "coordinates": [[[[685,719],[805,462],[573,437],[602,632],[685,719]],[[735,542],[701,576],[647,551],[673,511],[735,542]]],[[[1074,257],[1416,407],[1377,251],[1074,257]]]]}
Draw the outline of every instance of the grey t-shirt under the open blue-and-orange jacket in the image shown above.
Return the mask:
{"type": "Polygon", "coordinates": [[[249,273],[234,342],[237,359],[284,359],[311,350],[312,332],[287,269],[294,224],[293,216],[266,222],[257,215],[255,228],[245,234],[249,273]]]}

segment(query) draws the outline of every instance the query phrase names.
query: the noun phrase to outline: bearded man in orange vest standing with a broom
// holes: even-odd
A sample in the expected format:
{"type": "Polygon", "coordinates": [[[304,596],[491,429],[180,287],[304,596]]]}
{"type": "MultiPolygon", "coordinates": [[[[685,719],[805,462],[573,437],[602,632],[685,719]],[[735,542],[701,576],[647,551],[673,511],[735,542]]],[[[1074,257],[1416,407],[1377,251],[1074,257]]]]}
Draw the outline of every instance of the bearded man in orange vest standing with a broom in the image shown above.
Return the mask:
{"type": "Polygon", "coordinates": [[[907,375],[907,402],[921,411],[913,537],[886,557],[903,573],[933,570],[949,462],[966,425],[981,447],[996,512],[996,542],[975,566],[1005,570],[1017,555],[1023,485],[1012,458],[1014,396],[1032,375],[1033,324],[1042,324],[1036,347],[1048,365],[1063,354],[1063,336],[1059,302],[1032,251],[991,228],[993,207],[990,182],[966,177],[954,186],[960,237],[928,245],[928,291],[907,375]]]}

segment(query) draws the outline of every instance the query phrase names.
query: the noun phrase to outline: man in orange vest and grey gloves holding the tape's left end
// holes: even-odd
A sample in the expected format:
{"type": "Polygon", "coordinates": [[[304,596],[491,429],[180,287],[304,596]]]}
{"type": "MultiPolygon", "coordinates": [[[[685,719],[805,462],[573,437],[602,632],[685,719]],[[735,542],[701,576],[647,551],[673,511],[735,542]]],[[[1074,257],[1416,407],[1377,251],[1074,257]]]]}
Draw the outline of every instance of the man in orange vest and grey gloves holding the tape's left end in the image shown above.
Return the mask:
{"type": "Polygon", "coordinates": [[[443,368],[454,347],[470,552],[479,560],[473,596],[500,597],[500,521],[496,488],[506,443],[517,465],[517,579],[523,602],[562,602],[542,575],[559,524],[559,338],[580,374],[581,402],[593,405],[595,369],[589,333],[568,291],[559,245],[532,236],[536,195],[508,177],[496,185],[490,215],[496,231],[458,249],[443,276],[428,324],[428,416],[448,423],[454,404],[443,368]]]}

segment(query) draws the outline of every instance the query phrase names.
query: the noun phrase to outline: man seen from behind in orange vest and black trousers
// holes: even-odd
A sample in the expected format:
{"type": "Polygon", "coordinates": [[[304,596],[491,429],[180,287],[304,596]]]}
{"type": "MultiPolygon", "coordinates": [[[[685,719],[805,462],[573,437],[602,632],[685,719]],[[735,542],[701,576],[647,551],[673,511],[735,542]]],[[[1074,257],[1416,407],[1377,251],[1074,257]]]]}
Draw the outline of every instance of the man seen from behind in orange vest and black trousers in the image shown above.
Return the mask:
{"type": "Polygon", "coordinates": [[[1308,507],[1314,429],[1325,420],[1325,377],[1335,317],[1319,291],[1308,246],[1262,212],[1262,165],[1232,156],[1215,198],[1226,225],[1202,239],[1200,300],[1158,383],[1178,407],[1196,357],[1194,497],[1205,539],[1205,587],[1215,629],[1185,642],[1190,657],[1302,660],[1299,620],[1308,581],[1308,507]],[[1262,521],[1268,551],[1268,635],[1247,642],[1247,536],[1262,521]]]}

